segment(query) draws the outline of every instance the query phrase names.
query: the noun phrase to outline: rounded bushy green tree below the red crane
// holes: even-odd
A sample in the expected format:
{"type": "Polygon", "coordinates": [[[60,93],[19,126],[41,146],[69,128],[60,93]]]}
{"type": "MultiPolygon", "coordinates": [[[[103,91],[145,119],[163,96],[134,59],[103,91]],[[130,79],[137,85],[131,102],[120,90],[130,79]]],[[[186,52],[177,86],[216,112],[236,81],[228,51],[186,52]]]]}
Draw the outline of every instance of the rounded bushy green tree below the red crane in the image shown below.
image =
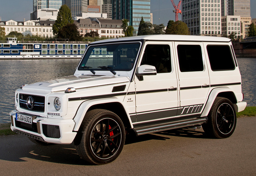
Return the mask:
{"type": "Polygon", "coordinates": [[[170,27],[166,28],[165,34],[190,35],[188,26],[182,21],[170,22],[170,27]]]}

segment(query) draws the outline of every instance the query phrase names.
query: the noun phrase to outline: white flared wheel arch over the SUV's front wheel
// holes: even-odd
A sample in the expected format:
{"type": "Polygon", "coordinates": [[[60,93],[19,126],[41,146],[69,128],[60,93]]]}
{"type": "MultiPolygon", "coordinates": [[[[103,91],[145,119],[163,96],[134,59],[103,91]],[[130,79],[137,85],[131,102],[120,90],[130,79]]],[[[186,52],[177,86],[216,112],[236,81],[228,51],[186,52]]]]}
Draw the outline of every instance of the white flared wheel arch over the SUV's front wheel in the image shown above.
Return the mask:
{"type": "Polygon", "coordinates": [[[93,105],[99,105],[99,104],[104,104],[104,103],[116,103],[116,102],[120,103],[123,106],[125,113],[128,117],[128,120],[130,122],[130,125],[133,128],[131,117],[130,117],[127,109],[125,108],[123,102],[117,98],[112,97],[112,98],[86,100],[86,101],[82,102],[76,112],[75,117],[73,118],[73,120],[75,122],[75,127],[74,127],[73,131],[79,130],[79,127],[81,126],[81,124],[83,122],[84,116],[90,107],[92,107],[93,105]]]}

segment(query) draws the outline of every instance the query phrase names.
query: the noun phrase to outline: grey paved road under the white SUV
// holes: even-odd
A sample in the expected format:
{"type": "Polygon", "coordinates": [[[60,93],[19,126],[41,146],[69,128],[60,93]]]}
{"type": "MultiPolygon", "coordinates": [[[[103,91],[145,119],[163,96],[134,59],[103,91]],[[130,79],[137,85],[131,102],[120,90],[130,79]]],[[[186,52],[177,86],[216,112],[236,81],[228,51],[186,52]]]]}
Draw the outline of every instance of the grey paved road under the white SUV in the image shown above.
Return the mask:
{"type": "Polygon", "coordinates": [[[0,175],[256,175],[256,117],[238,118],[227,139],[203,130],[169,130],[127,139],[121,155],[90,165],[73,144],[38,146],[22,135],[0,136],[0,175]]]}

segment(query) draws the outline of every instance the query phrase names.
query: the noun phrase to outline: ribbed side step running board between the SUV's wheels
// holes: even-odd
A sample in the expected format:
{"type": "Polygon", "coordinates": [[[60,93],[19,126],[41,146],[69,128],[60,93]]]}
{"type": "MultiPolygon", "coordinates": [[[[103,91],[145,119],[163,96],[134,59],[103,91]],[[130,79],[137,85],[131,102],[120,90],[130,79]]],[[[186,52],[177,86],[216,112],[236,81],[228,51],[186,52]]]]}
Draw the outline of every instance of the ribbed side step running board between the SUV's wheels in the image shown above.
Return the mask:
{"type": "Polygon", "coordinates": [[[172,122],[163,123],[163,124],[134,127],[133,129],[137,133],[137,135],[142,135],[142,134],[147,134],[152,132],[160,132],[164,130],[171,130],[171,129],[183,128],[183,127],[191,127],[195,129],[195,126],[199,128],[199,126],[201,126],[202,123],[206,122],[206,120],[207,120],[206,118],[193,118],[193,119],[186,119],[186,120],[180,120],[180,121],[174,121],[174,122],[172,121],[172,122]]]}

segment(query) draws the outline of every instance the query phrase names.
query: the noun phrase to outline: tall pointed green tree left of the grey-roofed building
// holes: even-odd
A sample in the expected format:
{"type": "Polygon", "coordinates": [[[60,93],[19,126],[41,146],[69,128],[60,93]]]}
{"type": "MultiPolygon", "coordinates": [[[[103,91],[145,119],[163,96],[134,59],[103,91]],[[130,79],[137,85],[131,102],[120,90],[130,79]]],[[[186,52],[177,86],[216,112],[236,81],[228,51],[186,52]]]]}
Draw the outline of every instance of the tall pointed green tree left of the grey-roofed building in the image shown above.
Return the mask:
{"type": "Polygon", "coordinates": [[[59,30],[67,25],[73,23],[74,20],[72,19],[71,11],[68,8],[66,4],[61,5],[60,11],[58,12],[57,15],[57,20],[55,20],[55,23],[52,26],[52,32],[53,35],[57,35],[59,30]]]}

